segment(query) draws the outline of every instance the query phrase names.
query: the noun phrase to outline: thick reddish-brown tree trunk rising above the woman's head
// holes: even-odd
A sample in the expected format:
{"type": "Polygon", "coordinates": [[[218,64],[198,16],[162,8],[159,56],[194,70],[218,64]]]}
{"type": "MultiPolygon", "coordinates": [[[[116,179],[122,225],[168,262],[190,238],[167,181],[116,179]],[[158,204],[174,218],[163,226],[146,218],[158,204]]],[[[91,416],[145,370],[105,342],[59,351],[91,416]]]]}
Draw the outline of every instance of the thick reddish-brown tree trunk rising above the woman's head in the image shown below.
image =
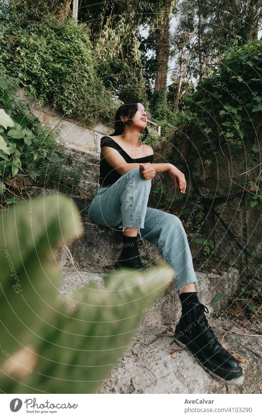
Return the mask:
{"type": "Polygon", "coordinates": [[[160,29],[158,38],[158,58],[157,58],[157,73],[155,81],[154,94],[161,92],[163,88],[167,87],[168,74],[168,59],[169,59],[169,14],[165,16],[163,27],[160,29]]]}

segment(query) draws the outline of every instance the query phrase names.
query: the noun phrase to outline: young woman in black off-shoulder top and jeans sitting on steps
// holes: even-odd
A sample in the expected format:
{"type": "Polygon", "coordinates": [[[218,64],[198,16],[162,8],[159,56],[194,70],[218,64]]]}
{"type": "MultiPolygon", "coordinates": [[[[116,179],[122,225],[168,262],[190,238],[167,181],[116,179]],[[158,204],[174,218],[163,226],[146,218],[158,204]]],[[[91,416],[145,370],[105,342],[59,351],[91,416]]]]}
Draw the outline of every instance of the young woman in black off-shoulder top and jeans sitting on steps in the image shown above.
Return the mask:
{"type": "Polygon", "coordinates": [[[208,310],[198,299],[197,277],[181,221],[175,215],[147,207],[156,173],[168,172],[180,193],[186,191],[185,176],[175,165],[153,163],[153,149],[143,143],[148,133],[147,118],[148,112],[136,99],[117,109],[114,133],[101,138],[100,187],[88,215],[96,224],[122,229],[123,248],[115,268],[146,268],[138,251],[138,233],[142,241],[145,238],[157,245],[176,272],[174,281],[182,305],[174,341],[186,346],[210,374],[239,385],[243,382],[242,369],[216,339],[204,314],[208,310]],[[141,132],[143,138],[139,140],[141,132]]]}

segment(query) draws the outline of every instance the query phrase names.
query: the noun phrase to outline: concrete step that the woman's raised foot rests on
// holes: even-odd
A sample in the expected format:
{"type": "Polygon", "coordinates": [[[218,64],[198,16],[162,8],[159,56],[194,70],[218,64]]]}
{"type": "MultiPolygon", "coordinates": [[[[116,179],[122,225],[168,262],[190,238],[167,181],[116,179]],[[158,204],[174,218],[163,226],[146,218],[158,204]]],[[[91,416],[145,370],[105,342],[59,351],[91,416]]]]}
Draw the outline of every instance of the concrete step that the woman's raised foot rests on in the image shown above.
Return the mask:
{"type": "MultiPolygon", "coordinates": [[[[70,256],[68,257],[70,259],[70,256]]],[[[108,272],[102,271],[100,266],[96,268],[97,271],[91,268],[74,268],[68,263],[67,266],[61,265],[61,286],[59,289],[59,296],[65,297],[70,295],[70,292],[74,289],[79,289],[88,285],[90,282],[98,284],[100,289],[104,288],[103,278],[106,275],[110,275],[114,278],[114,271],[108,269],[108,272]],[[98,272],[100,269],[100,272],[98,272]]],[[[130,269],[130,272],[132,270],[130,269]]],[[[199,299],[204,305],[208,307],[210,313],[218,312],[218,310],[227,306],[227,298],[221,298],[215,307],[212,307],[211,303],[217,293],[221,292],[221,289],[228,295],[232,296],[239,284],[239,272],[235,267],[230,267],[228,271],[221,273],[206,273],[196,271],[198,278],[197,291],[199,299]]],[[[128,280],[127,275],[123,277],[123,281],[128,280]]],[[[152,333],[162,332],[165,326],[177,321],[180,316],[180,300],[178,297],[178,291],[175,288],[174,282],[171,283],[168,289],[151,305],[149,308],[143,311],[144,317],[142,326],[138,329],[138,335],[142,335],[143,338],[149,338],[152,333]]]]}

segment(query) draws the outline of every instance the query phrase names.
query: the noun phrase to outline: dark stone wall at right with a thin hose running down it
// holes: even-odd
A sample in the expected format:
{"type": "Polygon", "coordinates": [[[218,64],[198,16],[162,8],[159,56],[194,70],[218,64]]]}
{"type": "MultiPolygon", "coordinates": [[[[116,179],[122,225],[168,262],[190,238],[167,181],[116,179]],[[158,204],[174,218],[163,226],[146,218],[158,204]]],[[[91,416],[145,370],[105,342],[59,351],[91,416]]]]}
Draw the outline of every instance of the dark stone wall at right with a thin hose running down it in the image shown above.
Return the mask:
{"type": "MultiPolygon", "coordinates": [[[[256,156],[252,151],[253,143],[245,141],[244,148],[235,154],[226,144],[221,145],[220,157],[217,157],[210,147],[200,152],[199,149],[203,144],[190,144],[185,137],[181,140],[175,138],[175,141],[182,160],[184,159],[190,166],[199,190],[206,191],[205,195],[209,203],[213,202],[213,208],[221,215],[239,242],[250,253],[262,258],[262,203],[252,207],[250,204],[252,194],[246,190],[250,189],[247,182],[258,178],[260,174],[258,154],[256,156]],[[206,161],[207,159],[211,160],[211,163],[206,161]],[[258,166],[255,167],[256,165],[258,166]]],[[[188,170],[186,172],[175,156],[172,144],[173,137],[170,136],[154,148],[155,162],[165,160],[172,162],[186,176],[187,197],[182,204],[177,204],[179,212],[182,206],[188,205],[193,208],[199,193],[190,181],[188,170]]],[[[162,176],[158,183],[167,190],[174,188],[175,192],[175,185],[168,175],[162,176]]],[[[157,202],[151,200],[150,203],[157,202]]],[[[218,217],[204,207],[203,200],[200,206],[205,213],[202,233],[205,238],[213,240],[217,253],[224,256],[223,261],[234,262],[244,277],[258,279],[261,282],[262,263],[253,260],[235,244],[218,217]]]]}

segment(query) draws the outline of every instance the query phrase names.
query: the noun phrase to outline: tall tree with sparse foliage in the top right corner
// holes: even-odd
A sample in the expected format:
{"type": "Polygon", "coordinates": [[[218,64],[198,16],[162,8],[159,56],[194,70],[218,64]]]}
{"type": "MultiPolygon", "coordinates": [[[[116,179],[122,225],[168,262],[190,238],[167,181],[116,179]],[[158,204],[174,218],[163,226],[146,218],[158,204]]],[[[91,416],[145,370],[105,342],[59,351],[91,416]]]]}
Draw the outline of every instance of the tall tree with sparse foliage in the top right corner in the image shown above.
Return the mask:
{"type": "Polygon", "coordinates": [[[188,33],[185,56],[186,73],[202,79],[204,69],[219,64],[222,54],[235,35],[245,43],[258,37],[262,23],[262,0],[180,0],[177,6],[178,24],[171,39],[171,49],[175,49],[177,62],[179,49],[177,38],[188,33]]]}

